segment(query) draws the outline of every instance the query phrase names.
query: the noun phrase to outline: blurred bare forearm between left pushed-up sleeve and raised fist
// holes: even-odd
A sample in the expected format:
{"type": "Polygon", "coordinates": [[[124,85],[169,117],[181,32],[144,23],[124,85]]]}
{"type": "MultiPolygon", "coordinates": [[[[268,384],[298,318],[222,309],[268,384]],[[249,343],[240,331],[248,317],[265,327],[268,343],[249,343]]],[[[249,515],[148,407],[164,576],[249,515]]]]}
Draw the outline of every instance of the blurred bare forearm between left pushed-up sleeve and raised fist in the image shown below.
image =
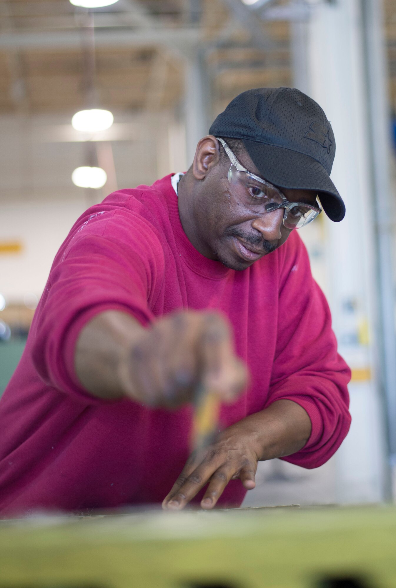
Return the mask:
{"type": "Polygon", "coordinates": [[[142,329],[137,320],[118,310],[107,310],[85,325],[76,343],[74,365],[86,390],[105,399],[124,395],[119,363],[142,329]]]}

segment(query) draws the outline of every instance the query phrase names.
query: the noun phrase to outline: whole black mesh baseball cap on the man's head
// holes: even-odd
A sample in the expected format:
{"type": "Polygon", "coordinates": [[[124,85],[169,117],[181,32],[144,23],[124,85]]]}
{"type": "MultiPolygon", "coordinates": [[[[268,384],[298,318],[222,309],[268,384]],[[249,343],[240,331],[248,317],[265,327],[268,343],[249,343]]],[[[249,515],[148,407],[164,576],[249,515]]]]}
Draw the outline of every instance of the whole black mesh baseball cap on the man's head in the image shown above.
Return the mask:
{"type": "Polygon", "coordinates": [[[210,135],[242,139],[262,178],[279,188],[316,190],[327,216],[345,205],[330,179],[335,140],[321,107],[295,88],[242,92],[221,112],[210,135]]]}

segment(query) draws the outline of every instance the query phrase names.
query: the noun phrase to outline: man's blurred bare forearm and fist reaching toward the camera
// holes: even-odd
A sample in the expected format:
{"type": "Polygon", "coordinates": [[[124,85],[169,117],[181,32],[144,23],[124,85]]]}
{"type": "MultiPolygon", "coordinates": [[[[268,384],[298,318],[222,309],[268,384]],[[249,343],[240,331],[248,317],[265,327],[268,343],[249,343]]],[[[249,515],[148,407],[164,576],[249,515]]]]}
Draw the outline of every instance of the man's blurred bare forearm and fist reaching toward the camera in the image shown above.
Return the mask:
{"type": "Polygon", "coordinates": [[[212,312],[177,312],[148,327],[124,312],[94,316],[79,334],[75,372],[92,395],[128,396],[151,406],[194,400],[198,385],[231,402],[247,385],[227,320],[212,312]]]}

